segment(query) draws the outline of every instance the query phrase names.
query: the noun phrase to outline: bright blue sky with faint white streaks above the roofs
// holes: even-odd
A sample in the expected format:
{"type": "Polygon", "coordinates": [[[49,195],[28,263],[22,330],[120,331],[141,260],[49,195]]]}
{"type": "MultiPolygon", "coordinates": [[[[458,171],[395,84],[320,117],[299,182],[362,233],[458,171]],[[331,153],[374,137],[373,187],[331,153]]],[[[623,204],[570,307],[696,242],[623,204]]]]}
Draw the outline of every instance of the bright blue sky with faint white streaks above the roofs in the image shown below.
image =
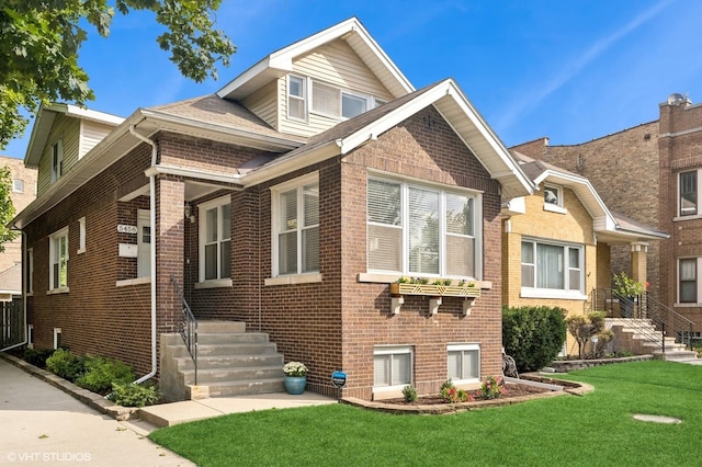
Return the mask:
{"type": "MultiPolygon", "coordinates": [[[[182,78],[158,48],[150,13],[89,31],[80,64],[90,109],[138,107],[213,93],[263,56],[350,16],[416,88],[453,78],[502,139],[585,143],[658,118],[670,93],[702,102],[697,0],[224,0],[217,26],[238,52],[219,79],[182,78]]],[[[23,158],[29,134],[4,155],[23,158]]]]}

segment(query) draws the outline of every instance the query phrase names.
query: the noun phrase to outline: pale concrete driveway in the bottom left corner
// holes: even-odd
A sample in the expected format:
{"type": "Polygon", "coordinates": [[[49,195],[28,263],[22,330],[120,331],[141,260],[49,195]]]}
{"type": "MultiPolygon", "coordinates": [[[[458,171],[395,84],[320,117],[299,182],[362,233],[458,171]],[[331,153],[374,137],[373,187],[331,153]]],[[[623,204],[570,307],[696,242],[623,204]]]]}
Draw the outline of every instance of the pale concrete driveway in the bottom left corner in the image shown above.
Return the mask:
{"type": "Polygon", "coordinates": [[[0,465],[194,465],[149,441],[152,425],[101,414],[3,358],[0,426],[0,465]]]}

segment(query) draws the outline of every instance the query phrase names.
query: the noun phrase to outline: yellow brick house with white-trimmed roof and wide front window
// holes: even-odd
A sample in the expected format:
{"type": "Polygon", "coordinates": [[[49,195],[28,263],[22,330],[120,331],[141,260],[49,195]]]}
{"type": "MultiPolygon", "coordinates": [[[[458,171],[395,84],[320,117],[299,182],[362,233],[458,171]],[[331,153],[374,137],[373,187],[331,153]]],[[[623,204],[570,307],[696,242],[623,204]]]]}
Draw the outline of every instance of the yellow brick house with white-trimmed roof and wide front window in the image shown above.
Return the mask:
{"type": "MultiPolygon", "coordinates": [[[[502,207],[502,304],[559,307],[568,315],[595,311],[592,291],[609,288],[612,281],[611,249],[669,236],[611,212],[586,178],[512,155],[537,191],[502,207]]],[[[632,260],[645,274],[646,249],[636,249],[632,260]]],[[[577,354],[571,335],[566,352],[577,354]]]]}

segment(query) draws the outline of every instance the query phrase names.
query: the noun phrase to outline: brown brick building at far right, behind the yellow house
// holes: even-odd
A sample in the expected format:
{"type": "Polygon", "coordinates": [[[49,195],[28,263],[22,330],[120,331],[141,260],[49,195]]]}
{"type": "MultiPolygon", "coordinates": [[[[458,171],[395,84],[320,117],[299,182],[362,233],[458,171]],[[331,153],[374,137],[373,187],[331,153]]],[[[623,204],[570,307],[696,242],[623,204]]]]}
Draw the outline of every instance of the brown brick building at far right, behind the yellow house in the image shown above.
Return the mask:
{"type": "MultiPolygon", "coordinates": [[[[587,178],[609,207],[669,232],[647,247],[649,292],[691,320],[702,339],[702,105],[671,94],[659,109],[657,121],[588,143],[548,146],[541,138],[512,149],[587,178]]],[[[638,274],[631,248],[613,249],[611,271],[638,274]]]]}

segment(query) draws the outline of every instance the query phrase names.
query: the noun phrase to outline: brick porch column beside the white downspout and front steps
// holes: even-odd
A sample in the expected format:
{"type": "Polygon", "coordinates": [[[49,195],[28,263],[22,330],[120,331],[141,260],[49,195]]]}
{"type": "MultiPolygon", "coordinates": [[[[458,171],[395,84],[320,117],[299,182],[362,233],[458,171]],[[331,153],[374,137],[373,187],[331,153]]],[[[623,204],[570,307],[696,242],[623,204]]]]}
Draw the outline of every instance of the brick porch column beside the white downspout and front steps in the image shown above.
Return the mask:
{"type": "Polygon", "coordinates": [[[177,176],[158,175],[156,179],[156,308],[157,330],[178,332],[182,307],[171,283],[171,275],[182,289],[185,183],[177,176]]]}

